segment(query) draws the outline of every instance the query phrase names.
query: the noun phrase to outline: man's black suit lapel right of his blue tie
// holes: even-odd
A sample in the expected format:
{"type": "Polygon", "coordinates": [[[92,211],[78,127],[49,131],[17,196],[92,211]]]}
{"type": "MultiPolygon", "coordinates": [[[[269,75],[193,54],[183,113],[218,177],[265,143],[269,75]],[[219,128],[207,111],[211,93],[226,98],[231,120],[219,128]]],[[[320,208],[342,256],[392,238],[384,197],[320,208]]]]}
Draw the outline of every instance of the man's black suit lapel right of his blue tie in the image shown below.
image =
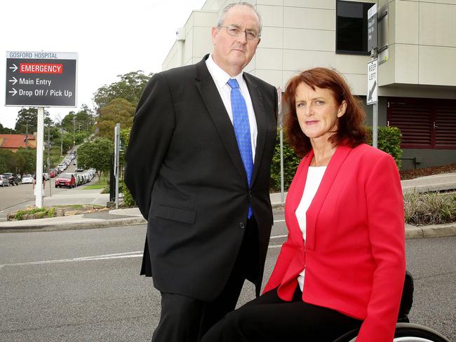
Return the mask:
{"type": "Polygon", "coordinates": [[[257,121],[257,145],[255,149],[255,160],[253,160],[253,175],[252,175],[252,186],[255,183],[255,179],[260,167],[260,160],[263,156],[264,142],[266,142],[266,112],[264,111],[263,97],[258,90],[257,86],[250,79],[250,75],[244,73],[244,79],[247,83],[248,93],[252,100],[253,111],[255,111],[255,118],[257,121]]]}

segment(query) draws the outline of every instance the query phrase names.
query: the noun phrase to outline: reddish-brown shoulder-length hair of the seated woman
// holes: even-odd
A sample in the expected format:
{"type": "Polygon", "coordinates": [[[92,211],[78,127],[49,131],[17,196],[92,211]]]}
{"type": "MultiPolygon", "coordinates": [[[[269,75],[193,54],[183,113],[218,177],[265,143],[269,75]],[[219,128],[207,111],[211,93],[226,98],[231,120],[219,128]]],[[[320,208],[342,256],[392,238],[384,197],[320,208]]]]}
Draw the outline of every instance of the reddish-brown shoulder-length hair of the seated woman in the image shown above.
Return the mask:
{"type": "Polygon", "coordinates": [[[347,102],[345,114],[339,118],[337,132],[330,137],[330,142],[335,146],[357,146],[366,142],[367,130],[364,125],[366,113],[361,100],[351,94],[347,82],[336,71],[328,68],[314,68],[302,71],[288,81],[284,100],[288,106],[285,114],[285,129],[288,143],[293,147],[298,156],[305,156],[312,149],[310,139],[301,130],[297,121],[295,95],[296,88],[304,83],[309,88],[330,89],[338,105],[347,102]]]}

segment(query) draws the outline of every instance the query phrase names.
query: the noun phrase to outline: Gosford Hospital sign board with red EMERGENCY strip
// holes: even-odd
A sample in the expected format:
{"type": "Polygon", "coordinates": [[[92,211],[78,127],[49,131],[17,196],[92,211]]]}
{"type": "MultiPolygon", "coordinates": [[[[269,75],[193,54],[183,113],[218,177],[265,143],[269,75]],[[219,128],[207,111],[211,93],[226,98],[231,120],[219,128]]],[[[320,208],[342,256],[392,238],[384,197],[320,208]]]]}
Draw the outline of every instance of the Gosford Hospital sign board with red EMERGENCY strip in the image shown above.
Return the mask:
{"type": "Polygon", "coordinates": [[[7,51],[6,106],[76,107],[77,53],[7,51]]]}

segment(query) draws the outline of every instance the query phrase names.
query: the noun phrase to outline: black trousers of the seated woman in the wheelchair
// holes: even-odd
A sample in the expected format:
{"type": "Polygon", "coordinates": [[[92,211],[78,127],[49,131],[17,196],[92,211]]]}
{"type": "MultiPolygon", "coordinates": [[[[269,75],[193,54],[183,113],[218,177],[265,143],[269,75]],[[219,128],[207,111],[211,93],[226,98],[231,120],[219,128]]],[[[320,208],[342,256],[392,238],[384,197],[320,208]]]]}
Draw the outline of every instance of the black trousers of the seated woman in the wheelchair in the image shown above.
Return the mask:
{"type": "Polygon", "coordinates": [[[202,342],[331,342],[361,327],[361,320],[304,303],[301,297],[299,287],[292,301],[283,301],[273,289],[228,313],[202,342]]]}

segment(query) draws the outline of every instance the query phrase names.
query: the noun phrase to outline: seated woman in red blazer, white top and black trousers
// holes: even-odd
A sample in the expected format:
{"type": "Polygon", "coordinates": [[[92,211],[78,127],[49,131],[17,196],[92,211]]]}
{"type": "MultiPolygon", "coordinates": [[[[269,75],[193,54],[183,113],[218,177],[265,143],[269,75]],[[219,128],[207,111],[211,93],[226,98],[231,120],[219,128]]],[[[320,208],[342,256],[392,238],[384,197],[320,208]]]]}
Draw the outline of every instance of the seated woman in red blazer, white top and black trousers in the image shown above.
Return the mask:
{"type": "Polygon", "coordinates": [[[365,114],[337,72],[292,78],[288,140],[303,156],[285,205],[288,239],[259,298],[211,341],[391,342],[405,275],[403,196],[389,154],[364,144],[365,114]]]}

